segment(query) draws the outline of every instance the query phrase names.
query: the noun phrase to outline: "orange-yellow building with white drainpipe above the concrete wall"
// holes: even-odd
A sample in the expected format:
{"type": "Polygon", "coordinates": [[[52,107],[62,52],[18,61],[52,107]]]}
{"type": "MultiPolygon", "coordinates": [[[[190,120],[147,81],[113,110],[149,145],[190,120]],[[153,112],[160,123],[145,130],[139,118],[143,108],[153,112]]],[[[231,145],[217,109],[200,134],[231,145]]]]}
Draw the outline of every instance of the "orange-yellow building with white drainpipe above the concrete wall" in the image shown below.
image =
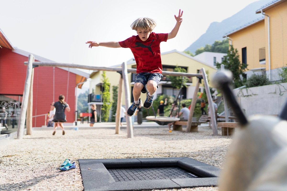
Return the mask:
{"type": "Polygon", "coordinates": [[[278,72],[287,64],[287,0],[277,0],[256,10],[262,17],[224,34],[238,50],[247,66],[247,78],[266,74],[270,81],[280,80],[278,72]]]}

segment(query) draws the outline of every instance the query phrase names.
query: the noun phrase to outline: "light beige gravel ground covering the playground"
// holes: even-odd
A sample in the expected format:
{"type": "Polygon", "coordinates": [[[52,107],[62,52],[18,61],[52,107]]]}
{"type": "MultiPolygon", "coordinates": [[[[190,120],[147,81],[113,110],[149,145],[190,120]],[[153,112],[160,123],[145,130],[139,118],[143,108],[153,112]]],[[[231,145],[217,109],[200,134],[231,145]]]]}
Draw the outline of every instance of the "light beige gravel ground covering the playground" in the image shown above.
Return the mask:
{"type": "MultiPolygon", "coordinates": [[[[185,128],[183,129],[185,130],[185,128]]],[[[134,138],[126,129],[33,131],[22,140],[12,140],[0,149],[0,190],[84,190],[78,159],[191,157],[222,168],[232,136],[213,136],[209,127],[198,133],[168,132],[166,128],[135,128],[134,138]],[[76,168],[60,171],[66,158],[76,168]]],[[[218,128],[218,133],[221,129],[218,128]]],[[[183,188],[212,190],[218,187],[183,188]]]]}

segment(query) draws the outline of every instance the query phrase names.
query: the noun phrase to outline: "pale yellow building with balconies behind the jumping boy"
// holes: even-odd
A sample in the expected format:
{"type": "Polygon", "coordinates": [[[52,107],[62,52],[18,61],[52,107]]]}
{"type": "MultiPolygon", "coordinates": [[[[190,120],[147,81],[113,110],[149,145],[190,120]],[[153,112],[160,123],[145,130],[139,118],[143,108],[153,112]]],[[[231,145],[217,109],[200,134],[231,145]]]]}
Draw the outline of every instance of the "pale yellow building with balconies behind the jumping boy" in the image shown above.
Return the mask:
{"type": "MultiPolygon", "coordinates": [[[[173,69],[178,65],[181,68],[185,68],[188,73],[198,73],[201,68],[205,68],[205,71],[209,73],[208,78],[211,79],[210,76],[212,76],[217,69],[214,66],[210,66],[202,61],[199,61],[192,56],[185,54],[183,52],[179,52],[177,50],[172,50],[170,52],[164,52],[161,54],[162,58],[162,70],[163,71],[173,71],[173,69]]],[[[121,65],[113,66],[113,67],[122,67],[121,65]]],[[[127,68],[136,68],[136,63],[134,59],[131,59],[127,62],[127,68]]],[[[96,94],[99,95],[101,92],[101,85],[102,85],[102,73],[103,71],[94,71],[91,75],[91,81],[90,81],[90,94],[96,94]]],[[[121,75],[117,72],[110,72],[106,71],[106,76],[110,82],[110,94],[112,99],[112,87],[113,86],[119,86],[119,80],[121,75]]],[[[133,85],[135,81],[135,74],[128,73],[128,80],[130,84],[130,92],[131,95],[131,102],[133,102],[133,85]]],[[[188,86],[187,88],[183,88],[183,99],[191,99],[193,97],[193,92],[195,90],[196,85],[196,77],[192,77],[189,79],[189,82],[186,83],[188,86]]],[[[177,96],[179,93],[178,89],[172,88],[170,85],[171,82],[168,81],[168,78],[166,76],[163,76],[160,80],[160,83],[158,84],[158,90],[156,90],[155,98],[158,95],[166,94],[166,95],[174,95],[177,96]]],[[[203,92],[203,84],[200,85],[199,91],[203,92]]],[[[124,89],[124,88],[123,88],[124,89]]],[[[99,96],[98,96],[99,97],[99,96]]],[[[141,94],[140,96],[141,100],[146,100],[146,94],[141,94]]],[[[96,104],[100,105],[100,101],[96,101],[96,104]]],[[[91,102],[93,103],[93,102],[91,102]]],[[[123,90],[123,100],[122,105],[125,105],[125,93],[123,90]]]]}

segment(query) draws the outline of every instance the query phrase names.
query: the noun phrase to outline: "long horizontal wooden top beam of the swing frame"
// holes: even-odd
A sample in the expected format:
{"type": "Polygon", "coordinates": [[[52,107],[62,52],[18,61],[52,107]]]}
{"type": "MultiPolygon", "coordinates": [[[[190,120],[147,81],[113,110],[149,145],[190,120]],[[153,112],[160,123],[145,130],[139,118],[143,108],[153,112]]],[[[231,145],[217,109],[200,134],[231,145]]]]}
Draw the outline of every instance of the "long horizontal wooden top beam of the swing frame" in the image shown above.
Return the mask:
{"type": "MultiPolygon", "coordinates": [[[[24,62],[25,65],[28,62],[24,62]]],[[[53,67],[63,67],[63,68],[80,68],[85,70],[103,70],[103,71],[122,71],[121,67],[97,67],[97,66],[85,66],[79,64],[65,64],[65,63],[58,63],[58,62],[33,62],[33,65],[37,66],[53,66],[53,67]]],[[[137,69],[135,68],[127,68],[128,72],[137,73],[137,69]]],[[[195,77],[195,76],[202,76],[202,74],[193,74],[193,73],[186,73],[186,72],[168,72],[162,71],[162,75],[168,76],[187,76],[187,77],[195,77]]]]}

